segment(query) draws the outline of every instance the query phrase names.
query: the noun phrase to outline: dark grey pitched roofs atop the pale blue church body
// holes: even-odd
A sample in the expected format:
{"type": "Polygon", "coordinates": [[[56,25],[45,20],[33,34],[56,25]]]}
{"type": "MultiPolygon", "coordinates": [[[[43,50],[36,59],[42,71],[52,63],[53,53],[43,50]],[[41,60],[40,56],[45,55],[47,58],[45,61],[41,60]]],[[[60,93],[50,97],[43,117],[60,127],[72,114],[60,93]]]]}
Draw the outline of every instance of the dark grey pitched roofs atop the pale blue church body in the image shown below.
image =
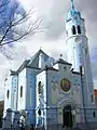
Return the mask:
{"type": "MultiPolygon", "coordinates": [[[[20,67],[15,72],[15,70],[11,70],[11,75],[17,75],[19,74],[24,68],[28,67],[28,68],[36,68],[39,69],[39,55],[40,54],[44,54],[45,55],[45,61],[48,58],[48,55],[46,53],[44,53],[42,50],[39,50],[30,60],[25,60],[23,62],[23,64],[20,65],[20,67]]],[[[72,65],[61,58],[57,60],[54,64],[56,63],[60,63],[60,64],[66,64],[66,65],[72,65]]],[[[42,70],[46,70],[46,69],[51,69],[51,70],[58,70],[53,68],[53,66],[44,66],[42,70]]]]}

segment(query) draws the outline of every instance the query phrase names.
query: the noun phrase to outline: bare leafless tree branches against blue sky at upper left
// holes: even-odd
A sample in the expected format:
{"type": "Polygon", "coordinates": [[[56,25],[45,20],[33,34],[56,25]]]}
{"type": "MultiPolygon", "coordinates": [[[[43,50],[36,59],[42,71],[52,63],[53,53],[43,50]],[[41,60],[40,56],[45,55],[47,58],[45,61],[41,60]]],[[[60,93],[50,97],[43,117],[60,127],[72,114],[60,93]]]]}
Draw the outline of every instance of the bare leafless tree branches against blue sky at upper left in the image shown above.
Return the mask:
{"type": "Polygon", "coordinates": [[[26,12],[22,9],[18,11],[18,4],[13,3],[12,8],[10,4],[12,4],[11,0],[0,0],[0,52],[8,58],[11,55],[9,56],[9,49],[6,49],[5,44],[10,47],[13,42],[25,38],[28,34],[33,35],[41,31],[40,25],[42,22],[41,18],[30,21],[30,16],[34,13],[33,10],[26,12]],[[9,6],[10,10],[6,11],[9,6]]]}

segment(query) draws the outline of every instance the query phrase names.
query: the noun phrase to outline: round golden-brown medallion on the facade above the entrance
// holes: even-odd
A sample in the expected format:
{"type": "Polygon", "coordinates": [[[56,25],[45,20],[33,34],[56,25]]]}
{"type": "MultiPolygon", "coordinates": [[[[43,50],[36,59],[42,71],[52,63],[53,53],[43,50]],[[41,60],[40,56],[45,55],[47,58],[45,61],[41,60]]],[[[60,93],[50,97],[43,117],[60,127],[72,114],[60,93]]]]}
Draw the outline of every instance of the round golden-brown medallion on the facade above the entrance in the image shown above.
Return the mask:
{"type": "Polygon", "coordinates": [[[60,88],[63,91],[68,92],[70,90],[70,81],[68,79],[60,80],[60,88]]]}

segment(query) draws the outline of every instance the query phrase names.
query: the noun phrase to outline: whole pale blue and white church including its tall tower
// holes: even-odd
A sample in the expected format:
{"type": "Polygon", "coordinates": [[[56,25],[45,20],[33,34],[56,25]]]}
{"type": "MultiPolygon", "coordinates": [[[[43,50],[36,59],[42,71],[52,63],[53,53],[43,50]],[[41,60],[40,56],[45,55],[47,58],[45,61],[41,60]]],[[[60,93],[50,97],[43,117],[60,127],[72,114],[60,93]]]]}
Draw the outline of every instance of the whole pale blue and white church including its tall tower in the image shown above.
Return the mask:
{"type": "MultiPolygon", "coordinates": [[[[11,109],[12,113],[18,112],[26,125],[48,126],[50,130],[84,123],[96,126],[85,21],[75,10],[73,0],[66,20],[66,34],[64,48],[67,48],[68,61],[61,56],[55,60],[40,49],[17,70],[11,70],[5,80],[3,118],[11,109]]],[[[13,120],[15,115],[11,118],[13,120]]]]}

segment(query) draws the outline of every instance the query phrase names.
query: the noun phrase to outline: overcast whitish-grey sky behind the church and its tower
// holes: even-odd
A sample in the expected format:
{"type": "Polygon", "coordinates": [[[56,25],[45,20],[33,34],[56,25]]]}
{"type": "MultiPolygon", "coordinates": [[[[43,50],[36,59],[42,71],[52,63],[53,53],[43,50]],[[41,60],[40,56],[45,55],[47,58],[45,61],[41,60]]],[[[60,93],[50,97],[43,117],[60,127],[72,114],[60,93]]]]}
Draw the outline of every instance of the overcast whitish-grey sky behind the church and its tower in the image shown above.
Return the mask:
{"type": "MultiPolygon", "coordinates": [[[[40,47],[50,55],[59,56],[61,53],[67,60],[65,21],[70,11],[70,0],[18,0],[26,11],[33,9],[38,17],[42,17],[42,26],[46,29],[42,34],[29,36],[23,42],[16,43],[15,55],[12,62],[0,54],[0,99],[3,99],[3,81],[10,68],[16,69],[22,62],[36,53],[40,47]]],[[[97,88],[97,0],[74,0],[75,8],[85,18],[86,36],[91,51],[94,84],[97,88]]]]}

